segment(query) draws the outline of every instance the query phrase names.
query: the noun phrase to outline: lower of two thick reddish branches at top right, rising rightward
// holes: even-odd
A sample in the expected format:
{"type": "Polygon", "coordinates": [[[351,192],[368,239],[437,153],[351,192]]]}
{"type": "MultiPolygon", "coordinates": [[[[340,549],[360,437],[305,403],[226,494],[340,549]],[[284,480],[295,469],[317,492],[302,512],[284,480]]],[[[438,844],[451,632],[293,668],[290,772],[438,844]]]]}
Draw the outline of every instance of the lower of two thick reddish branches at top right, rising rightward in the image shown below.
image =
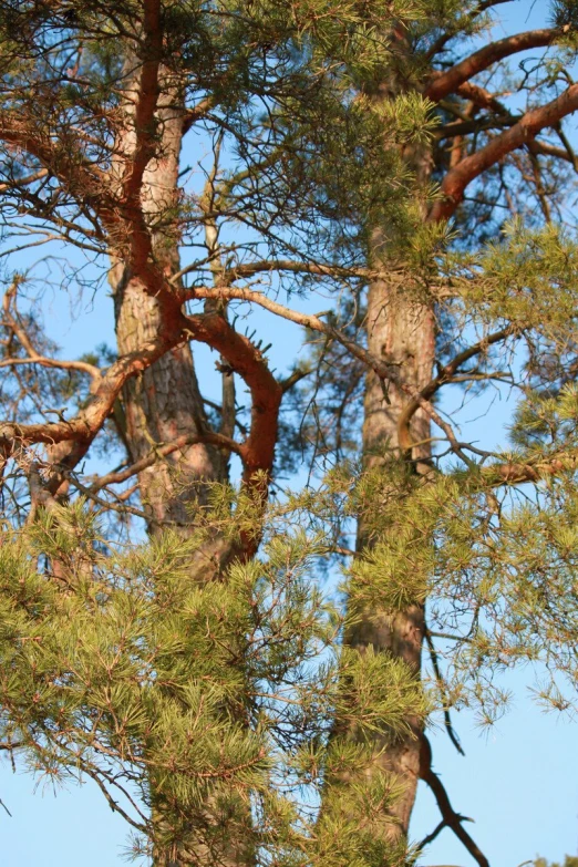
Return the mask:
{"type": "Polygon", "coordinates": [[[556,126],[562,117],[578,110],[578,84],[572,84],[556,100],[533,109],[509,130],[493,138],[475,154],[466,156],[445,176],[438,199],[430,213],[430,221],[448,219],[463,199],[466,186],[512,151],[528,145],[547,126],[556,126]]]}

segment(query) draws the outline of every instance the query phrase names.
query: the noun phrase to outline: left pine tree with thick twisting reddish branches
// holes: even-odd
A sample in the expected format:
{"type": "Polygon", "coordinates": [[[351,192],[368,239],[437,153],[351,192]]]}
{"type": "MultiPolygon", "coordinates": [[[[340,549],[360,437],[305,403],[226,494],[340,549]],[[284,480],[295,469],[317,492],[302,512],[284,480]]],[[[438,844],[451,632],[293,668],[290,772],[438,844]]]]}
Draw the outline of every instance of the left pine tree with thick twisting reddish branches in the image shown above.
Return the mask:
{"type": "MultiPolygon", "coordinates": [[[[353,156],[369,143],[344,72],[373,60],[368,22],[347,4],[318,21],[314,3],[1,12],[6,234],[21,254],[80,251],[94,288],[107,277],[116,330],[114,350],[61,360],[30,275],[7,273],[2,746],[92,777],[155,865],[331,860],[331,827],[313,835],[307,801],[287,793],[363,762],[347,739],[328,746],[338,706],[360,731],[382,712],[404,729],[422,699],[391,660],[340,654],[347,703],[331,661],[309,670],[341,630],[301,578],[327,544],[291,523],[276,541],[267,504],[281,396],[300,374],[275,378],[221,291],[324,275],[312,251],[337,250],[358,184],[371,172],[399,187],[379,153],[343,163],[352,194],[336,174],[324,195],[312,171],[330,135],[353,156]],[[188,169],[187,134],[204,152],[188,169]],[[190,341],[220,357],[220,404],[202,396],[190,341]],[[94,477],[99,446],[113,463],[94,477]],[[148,547],[123,557],[143,523],[148,547]]],[[[331,273],[350,258],[336,252],[331,273]]],[[[63,268],[84,279],[78,258],[63,268]]],[[[360,848],[353,820],[342,837],[340,863],[360,848]]]]}

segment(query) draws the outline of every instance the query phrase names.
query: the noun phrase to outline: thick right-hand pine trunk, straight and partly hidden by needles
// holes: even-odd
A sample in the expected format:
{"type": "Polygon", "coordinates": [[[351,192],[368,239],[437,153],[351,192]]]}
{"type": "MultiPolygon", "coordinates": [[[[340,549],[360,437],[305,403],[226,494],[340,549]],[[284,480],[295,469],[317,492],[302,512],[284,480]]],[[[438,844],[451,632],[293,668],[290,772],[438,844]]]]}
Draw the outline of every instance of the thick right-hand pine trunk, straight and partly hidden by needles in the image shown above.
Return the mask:
{"type": "MultiPolygon", "coordinates": [[[[412,390],[423,388],[431,379],[434,358],[433,311],[412,297],[402,280],[376,280],[369,290],[368,347],[370,351],[395,365],[404,385],[412,390]]],[[[363,463],[367,469],[381,467],[385,474],[388,464],[396,464],[405,455],[399,441],[398,423],[407,395],[400,389],[389,389],[389,403],[382,383],[374,373],[367,378],[363,424],[363,463]]],[[[426,458],[430,453],[430,422],[420,411],[412,424],[412,440],[417,443],[413,458],[426,458]]],[[[413,465],[419,469],[419,464],[413,465]]],[[[389,530],[395,533],[392,526],[389,530]]],[[[358,529],[358,550],[371,547],[372,538],[363,522],[358,529]]],[[[424,636],[424,610],[419,601],[401,611],[374,608],[349,630],[347,643],[363,652],[375,651],[402,659],[420,677],[421,650],[424,636]]],[[[403,794],[395,802],[385,820],[383,834],[391,842],[399,842],[407,834],[410,816],[415,799],[420,773],[420,727],[410,720],[412,734],[392,742],[388,735],[375,739],[375,766],[394,774],[403,784],[403,794]]]]}

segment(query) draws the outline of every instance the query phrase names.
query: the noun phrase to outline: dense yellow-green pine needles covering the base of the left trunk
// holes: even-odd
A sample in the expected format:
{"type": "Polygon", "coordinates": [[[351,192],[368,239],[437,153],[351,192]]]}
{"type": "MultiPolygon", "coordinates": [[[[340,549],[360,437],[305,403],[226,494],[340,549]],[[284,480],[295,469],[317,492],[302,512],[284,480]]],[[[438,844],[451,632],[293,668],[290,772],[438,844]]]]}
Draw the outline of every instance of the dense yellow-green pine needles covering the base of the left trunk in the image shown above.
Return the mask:
{"type": "MultiPolygon", "coordinates": [[[[337,863],[312,835],[312,795],[297,793],[331,768],[361,773],[371,751],[331,731],[395,737],[423,713],[420,687],[399,661],[340,650],[341,620],[311,580],[318,536],[288,528],[208,584],[190,581],[197,548],[169,533],[111,548],[82,502],[4,531],[2,742],[41,780],[95,780],[140,833],[137,854],[186,835],[217,859],[246,845],[252,803],[265,860],[337,863]]],[[[340,858],[353,847],[378,863],[360,860],[354,816],[385,789],[348,801],[340,858]]]]}

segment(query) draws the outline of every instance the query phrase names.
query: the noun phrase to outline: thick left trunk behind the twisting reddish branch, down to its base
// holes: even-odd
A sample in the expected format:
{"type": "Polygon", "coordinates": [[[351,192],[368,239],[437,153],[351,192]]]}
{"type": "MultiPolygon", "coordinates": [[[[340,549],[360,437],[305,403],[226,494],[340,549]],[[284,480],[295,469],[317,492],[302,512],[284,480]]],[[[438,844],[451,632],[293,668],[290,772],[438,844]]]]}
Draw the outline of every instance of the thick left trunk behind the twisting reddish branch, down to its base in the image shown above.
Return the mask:
{"type": "MultiPolygon", "coordinates": [[[[168,276],[179,270],[179,234],[175,214],[183,110],[176,90],[165,89],[162,100],[164,103],[161,102],[157,110],[157,156],[151,159],[143,175],[141,207],[153,238],[155,265],[161,266],[168,276]],[[162,228],[156,230],[155,226],[162,228]]],[[[130,161],[134,152],[131,103],[127,103],[126,115],[127,132],[118,147],[122,156],[113,167],[118,179],[123,176],[123,157],[130,161]]],[[[109,280],[114,297],[118,353],[137,351],[162,333],[162,306],[145,291],[138,273],[131,272],[114,251],[109,280]]],[[[225,404],[231,402],[230,390],[230,382],[227,382],[224,389],[225,404]]],[[[202,438],[209,430],[189,343],[173,349],[141,376],[128,380],[123,390],[122,404],[123,438],[133,462],[149,456],[161,444],[172,443],[178,437],[202,438]]],[[[148,517],[149,533],[169,526],[185,538],[190,536],[195,527],[195,512],[207,505],[209,485],[227,481],[227,469],[228,455],[213,445],[197,442],[159,458],[141,472],[138,489],[148,517]]],[[[229,540],[219,535],[210,537],[190,559],[190,580],[207,582],[219,579],[224,566],[234,554],[229,540]]],[[[225,712],[230,714],[235,710],[225,709],[225,712]]],[[[174,838],[163,818],[163,794],[155,793],[154,778],[151,780],[151,803],[158,838],[174,838]]],[[[211,863],[219,863],[224,867],[247,867],[252,860],[252,823],[250,806],[246,802],[239,801],[237,808],[231,809],[229,824],[233,832],[223,823],[219,809],[209,795],[203,815],[192,817],[189,828],[186,824],[180,828],[177,842],[168,845],[158,840],[155,843],[154,867],[211,863]]]]}

